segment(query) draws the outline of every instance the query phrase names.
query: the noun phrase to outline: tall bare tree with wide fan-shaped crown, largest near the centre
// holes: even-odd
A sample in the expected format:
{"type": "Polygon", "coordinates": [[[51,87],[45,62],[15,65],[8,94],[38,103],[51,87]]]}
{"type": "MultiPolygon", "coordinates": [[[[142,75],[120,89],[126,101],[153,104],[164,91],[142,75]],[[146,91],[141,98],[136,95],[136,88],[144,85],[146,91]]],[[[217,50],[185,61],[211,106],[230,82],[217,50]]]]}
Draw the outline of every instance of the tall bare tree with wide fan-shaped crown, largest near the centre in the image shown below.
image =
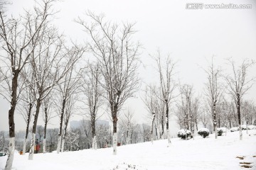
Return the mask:
{"type": "Polygon", "coordinates": [[[117,24],[105,21],[103,15],[96,16],[88,12],[92,20],[88,25],[78,18],[77,22],[90,35],[89,43],[92,54],[100,62],[103,81],[100,83],[105,90],[113,123],[113,154],[117,154],[117,113],[127,98],[132,97],[139,87],[137,68],[139,67],[139,43],[132,42],[135,33],[134,24],[117,24]]]}

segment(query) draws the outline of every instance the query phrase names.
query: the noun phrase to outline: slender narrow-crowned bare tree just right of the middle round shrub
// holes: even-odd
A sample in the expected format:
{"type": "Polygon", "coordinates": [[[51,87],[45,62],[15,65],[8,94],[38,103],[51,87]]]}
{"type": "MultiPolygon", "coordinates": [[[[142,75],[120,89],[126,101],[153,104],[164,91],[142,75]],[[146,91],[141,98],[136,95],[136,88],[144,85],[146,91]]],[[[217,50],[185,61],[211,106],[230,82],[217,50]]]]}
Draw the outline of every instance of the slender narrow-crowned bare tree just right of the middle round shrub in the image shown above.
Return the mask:
{"type": "Polygon", "coordinates": [[[220,97],[223,94],[223,87],[220,84],[220,69],[213,64],[213,57],[208,68],[205,69],[207,74],[206,83],[206,97],[208,100],[208,107],[213,117],[213,130],[215,131],[215,139],[217,139],[217,107],[220,102],[220,97]]]}

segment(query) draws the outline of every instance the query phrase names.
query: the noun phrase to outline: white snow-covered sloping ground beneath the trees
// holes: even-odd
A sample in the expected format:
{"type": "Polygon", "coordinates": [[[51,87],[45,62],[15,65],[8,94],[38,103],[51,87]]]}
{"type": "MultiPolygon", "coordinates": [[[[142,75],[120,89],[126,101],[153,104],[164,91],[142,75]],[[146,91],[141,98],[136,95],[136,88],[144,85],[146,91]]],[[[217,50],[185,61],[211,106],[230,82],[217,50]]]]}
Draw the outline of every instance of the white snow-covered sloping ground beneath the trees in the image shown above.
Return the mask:
{"type": "MultiPolygon", "coordinates": [[[[227,136],[214,135],[208,138],[196,136],[195,140],[171,140],[171,147],[167,140],[126,145],[117,148],[117,155],[112,155],[112,148],[85,149],[77,152],[60,154],[35,154],[34,160],[15,154],[14,169],[246,169],[241,163],[252,163],[252,170],[256,169],[256,130],[243,131],[243,140],[239,140],[238,132],[228,132],[227,136]],[[239,159],[237,157],[242,157],[239,159]]],[[[0,157],[0,169],[4,169],[7,157],[0,157]]]]}

